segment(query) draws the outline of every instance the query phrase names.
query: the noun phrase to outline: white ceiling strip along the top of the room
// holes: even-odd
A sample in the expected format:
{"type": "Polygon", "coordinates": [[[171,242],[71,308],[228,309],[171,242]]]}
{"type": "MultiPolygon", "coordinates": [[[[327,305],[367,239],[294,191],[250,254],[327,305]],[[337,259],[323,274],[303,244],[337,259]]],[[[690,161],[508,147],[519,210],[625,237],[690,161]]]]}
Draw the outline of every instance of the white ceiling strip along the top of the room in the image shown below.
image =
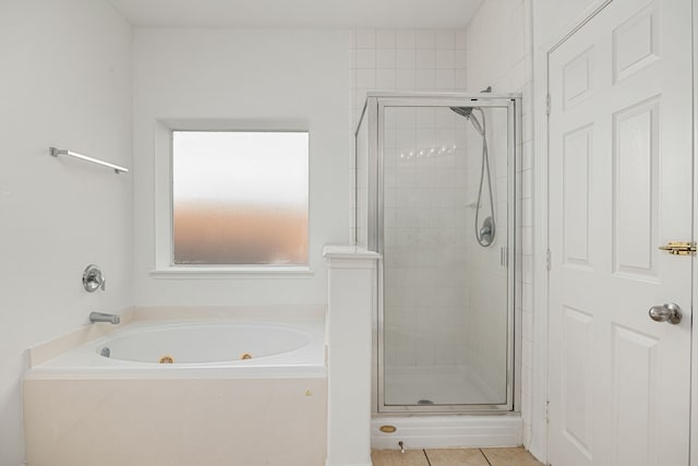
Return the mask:
{"type": "Polygon", "coordinates": [[[484,0],[109,0],[146,27],[465,27],[484,0]]]}

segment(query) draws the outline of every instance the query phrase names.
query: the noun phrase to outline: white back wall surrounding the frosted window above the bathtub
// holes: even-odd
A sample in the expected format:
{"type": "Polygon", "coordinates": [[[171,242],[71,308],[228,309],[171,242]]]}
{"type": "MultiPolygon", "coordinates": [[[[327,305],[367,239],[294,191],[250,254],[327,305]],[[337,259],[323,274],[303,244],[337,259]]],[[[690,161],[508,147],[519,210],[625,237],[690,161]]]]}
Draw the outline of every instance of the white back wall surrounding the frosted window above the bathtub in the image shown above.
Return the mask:
{"type": "Polygon", "coordinates": [[[139,306],[327,302],[322,247],[349,230],[349,34],[300,29],[134,32],[135,301],[139,306]],[[310,129],[310,266],[303,278],[160,278],[155,263],[157,119],[302,120],[310,129]]]}

